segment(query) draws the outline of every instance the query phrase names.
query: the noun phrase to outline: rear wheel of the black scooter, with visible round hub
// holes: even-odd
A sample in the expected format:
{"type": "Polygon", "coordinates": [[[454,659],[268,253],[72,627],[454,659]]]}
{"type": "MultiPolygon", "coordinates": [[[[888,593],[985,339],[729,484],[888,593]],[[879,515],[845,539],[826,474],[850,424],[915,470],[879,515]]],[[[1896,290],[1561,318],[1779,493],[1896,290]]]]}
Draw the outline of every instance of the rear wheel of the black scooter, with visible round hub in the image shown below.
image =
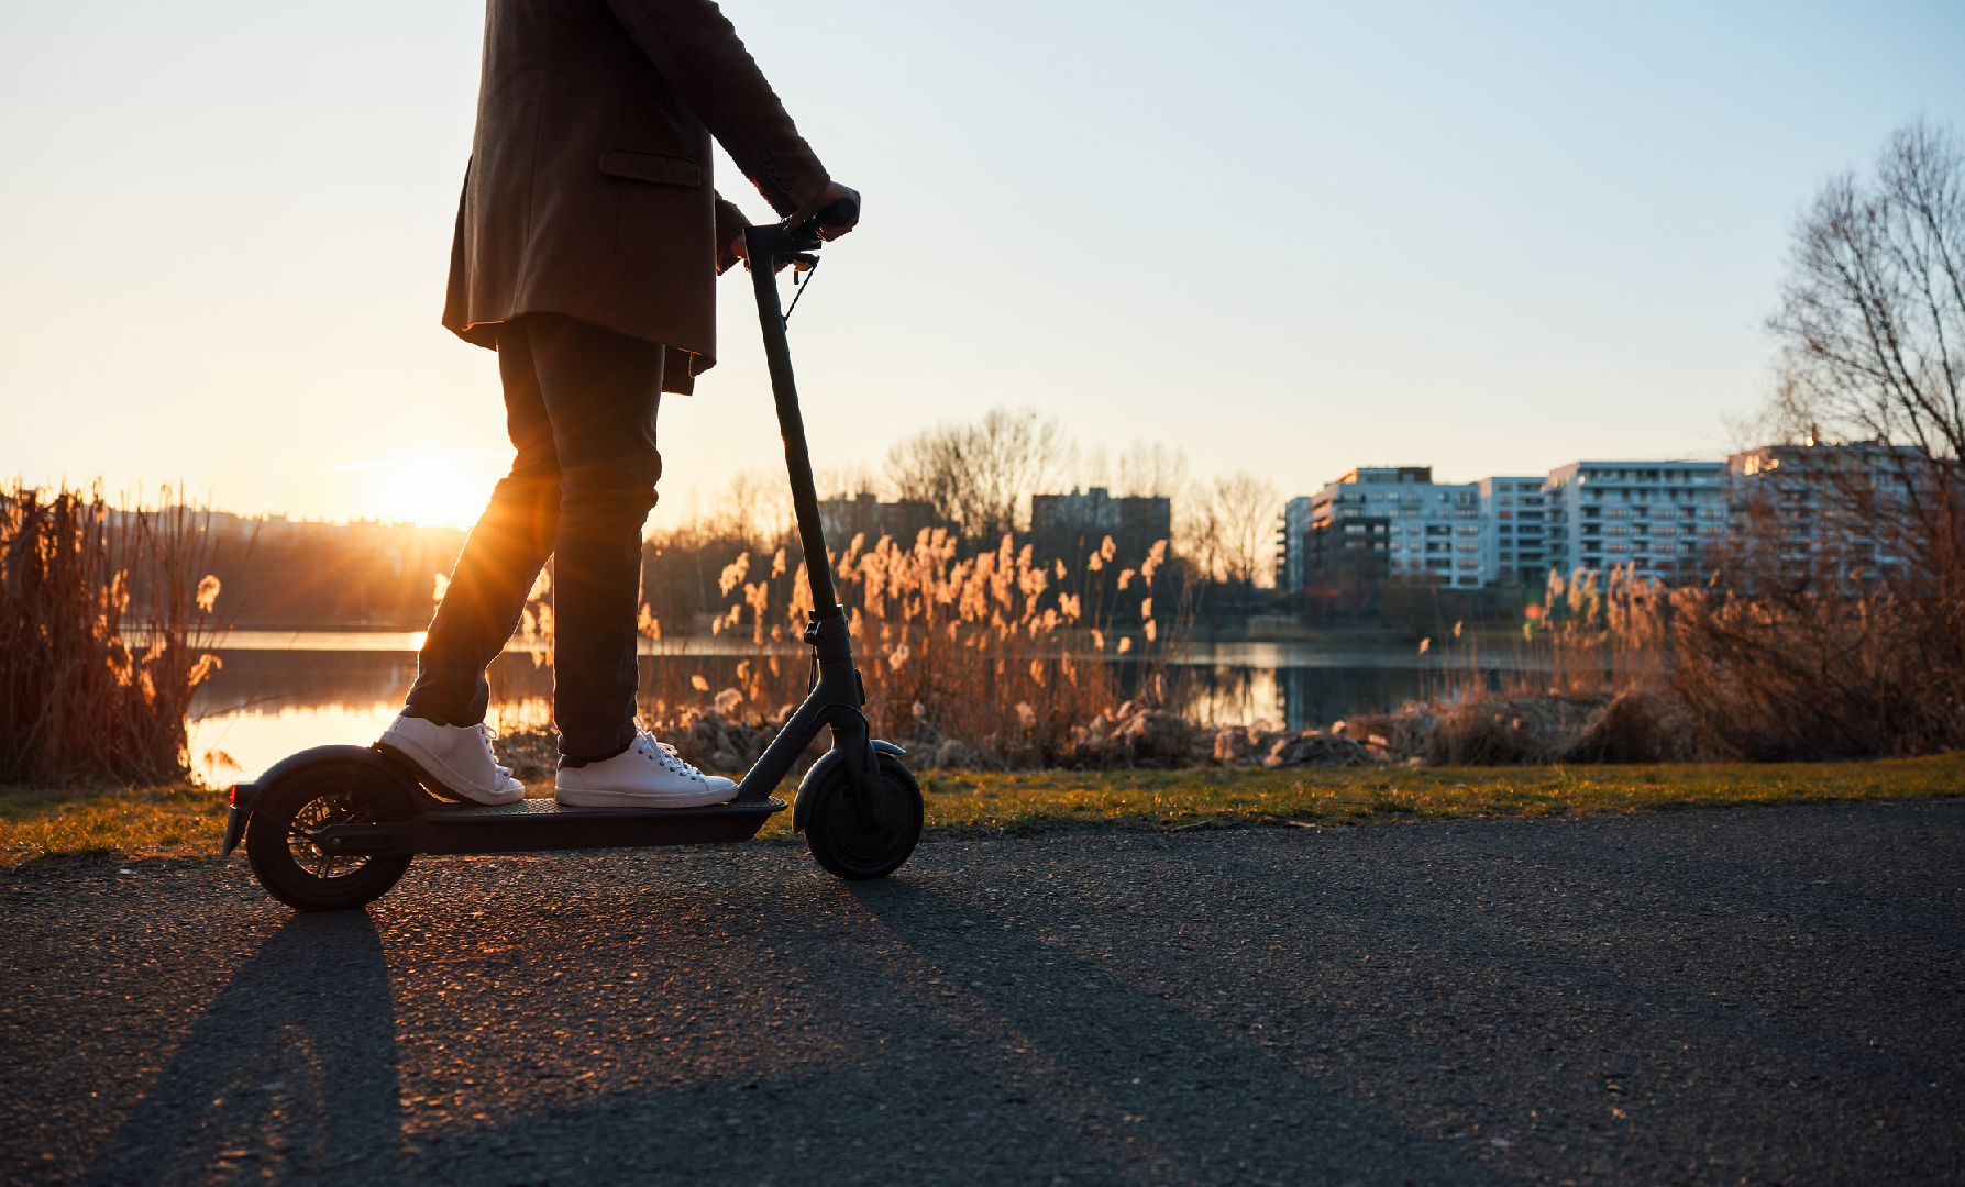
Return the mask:
{"type": "Polygon", "coordinates": [[[265,892],[295,910],[354,910],[395,886],[409,855],[326,853],[310,833],[413,814],[409,794],[379,770],[358,763],[303,766],[259,796],[246,827],[246,857],[265,892]]]}

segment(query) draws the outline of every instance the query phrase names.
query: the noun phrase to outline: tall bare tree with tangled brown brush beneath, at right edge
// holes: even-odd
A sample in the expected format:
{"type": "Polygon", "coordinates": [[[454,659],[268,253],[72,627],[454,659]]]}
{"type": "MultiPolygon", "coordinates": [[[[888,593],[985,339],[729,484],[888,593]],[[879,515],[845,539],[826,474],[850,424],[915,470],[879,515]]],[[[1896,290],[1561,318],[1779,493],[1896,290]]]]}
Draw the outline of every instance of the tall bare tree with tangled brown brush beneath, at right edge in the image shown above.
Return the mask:
{"type": "Polygon", "coordinates": [[[1794,226],[1778,444],[1719,580],[1672,595],[1674,688],[1749,757],[1965,745],[1965,153],[1914,120],[1794,226]]]}

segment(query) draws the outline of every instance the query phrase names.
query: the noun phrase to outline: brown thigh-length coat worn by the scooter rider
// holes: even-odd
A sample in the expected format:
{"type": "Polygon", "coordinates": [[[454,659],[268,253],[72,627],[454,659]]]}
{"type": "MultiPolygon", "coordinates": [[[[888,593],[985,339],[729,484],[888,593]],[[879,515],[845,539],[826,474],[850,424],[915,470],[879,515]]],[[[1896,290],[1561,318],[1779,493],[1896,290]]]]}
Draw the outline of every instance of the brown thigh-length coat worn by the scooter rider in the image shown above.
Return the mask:
{"type": "Polygon", "coordinates": [[[564,312],[666,344],[662,387],[690,391],[747,224],[711,136],[780,214],[829,181],[711,0],[489,0],[444,326],[495,348],[499,322],[564,312]]]}

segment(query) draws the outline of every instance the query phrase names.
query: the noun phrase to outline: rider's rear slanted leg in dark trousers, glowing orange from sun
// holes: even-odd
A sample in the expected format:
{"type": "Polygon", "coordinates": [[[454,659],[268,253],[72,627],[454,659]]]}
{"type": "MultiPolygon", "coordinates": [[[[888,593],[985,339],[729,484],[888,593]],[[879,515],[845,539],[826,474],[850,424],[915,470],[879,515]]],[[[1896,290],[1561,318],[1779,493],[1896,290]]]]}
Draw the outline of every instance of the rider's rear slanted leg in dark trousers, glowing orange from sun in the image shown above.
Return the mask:
{"type": "Polygon", "coordinates": [[[560,464],[529,334],[531,318],[499,330],[505,428],[517,456],[491,491],[417,656],[407,713],[438,725],[477,725],[491,686],[485,668],[505,649],[525,595],[552,552],[560,515],[560,464]]]}

